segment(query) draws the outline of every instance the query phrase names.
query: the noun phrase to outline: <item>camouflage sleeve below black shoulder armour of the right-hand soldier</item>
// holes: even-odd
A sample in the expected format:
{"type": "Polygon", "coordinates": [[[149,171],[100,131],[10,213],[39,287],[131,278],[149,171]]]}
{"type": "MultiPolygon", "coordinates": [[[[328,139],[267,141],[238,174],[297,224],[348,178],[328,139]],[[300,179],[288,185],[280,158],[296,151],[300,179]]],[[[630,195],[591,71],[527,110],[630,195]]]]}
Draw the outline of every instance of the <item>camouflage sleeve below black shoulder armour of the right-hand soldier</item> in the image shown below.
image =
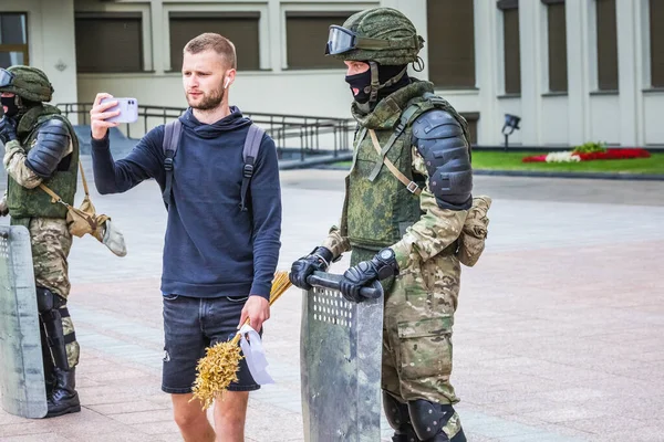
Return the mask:
{"type": "Polygon", "coordinates": [[[413,147],[413,171],[427,177],[427,186],[419,194],[419,207],[424,213],[419,221],[406,230],[406,234],[392,249],[400,269],[407,269],[419,255],[423,261],[437,255],[459,238],[467,210],[440,209],[428,188],[428,172],[424,159],[413,147]]]}

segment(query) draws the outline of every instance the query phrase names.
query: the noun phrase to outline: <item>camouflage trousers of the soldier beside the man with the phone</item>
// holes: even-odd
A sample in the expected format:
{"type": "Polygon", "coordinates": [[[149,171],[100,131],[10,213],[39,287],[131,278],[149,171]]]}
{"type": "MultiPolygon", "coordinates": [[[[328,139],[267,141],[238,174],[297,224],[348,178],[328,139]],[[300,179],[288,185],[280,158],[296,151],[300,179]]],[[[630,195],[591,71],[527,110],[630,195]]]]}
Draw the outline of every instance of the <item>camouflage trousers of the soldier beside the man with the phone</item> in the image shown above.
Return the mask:
{"type": "MultiPolygon", "coordinates": [[[[374,254],[353,249],[351,263],[374,254]]],[[[447,251],[425,262],[413,261],[398,276],[383,282],[382,388],[402,402],[425,399],[454,404],[458,398],[449,382],[452,328],[460,265],[447,251]]]]}

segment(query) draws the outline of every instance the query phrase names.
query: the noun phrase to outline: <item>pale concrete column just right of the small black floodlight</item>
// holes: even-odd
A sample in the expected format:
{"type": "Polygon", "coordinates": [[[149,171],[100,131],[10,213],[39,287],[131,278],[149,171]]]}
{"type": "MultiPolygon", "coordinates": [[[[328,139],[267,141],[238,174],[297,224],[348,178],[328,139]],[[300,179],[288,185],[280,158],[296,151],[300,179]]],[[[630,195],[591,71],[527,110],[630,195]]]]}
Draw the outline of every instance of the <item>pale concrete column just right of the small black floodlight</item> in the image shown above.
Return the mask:
{"type": "MultiPolygon", "coordinates": [[[[519,34],[521,46],[521,144],[538,146],[542,143],[540,126],[543,72],[546,60],[542,44],[547,44],[542,29],[546,10],[537,1],[519,2],[519,34]]],[[[546,124],[546,122],[543,122],[546,124]]]]}

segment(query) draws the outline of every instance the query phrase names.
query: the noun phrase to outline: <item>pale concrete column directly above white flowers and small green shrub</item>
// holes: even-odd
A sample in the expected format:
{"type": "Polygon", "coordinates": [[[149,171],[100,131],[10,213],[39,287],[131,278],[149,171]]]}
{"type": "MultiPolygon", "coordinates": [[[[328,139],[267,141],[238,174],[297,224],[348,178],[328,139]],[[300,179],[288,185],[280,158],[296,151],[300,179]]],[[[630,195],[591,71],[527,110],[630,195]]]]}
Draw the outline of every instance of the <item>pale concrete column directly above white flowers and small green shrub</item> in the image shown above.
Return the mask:
{"type": "Polygon", "coordinates": [[[568,62],[568,143],[571,146],[588,141],[589,120],[589,35],[588,9],[594,0],[566,2],[568,62]],[[589,4],[590,3],[590,4],[589,4]]]}

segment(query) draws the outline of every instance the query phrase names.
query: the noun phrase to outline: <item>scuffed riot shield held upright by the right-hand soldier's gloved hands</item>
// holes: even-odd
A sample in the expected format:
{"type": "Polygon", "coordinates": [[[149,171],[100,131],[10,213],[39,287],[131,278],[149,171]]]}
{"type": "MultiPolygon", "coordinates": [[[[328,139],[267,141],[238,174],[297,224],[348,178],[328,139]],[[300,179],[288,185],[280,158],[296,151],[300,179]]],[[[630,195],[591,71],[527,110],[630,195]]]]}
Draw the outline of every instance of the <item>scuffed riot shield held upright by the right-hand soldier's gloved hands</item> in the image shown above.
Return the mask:
{"type": "MultiPolygon", "coordinates": [[[[308,442],[381,440],[383,288],[350,303],[341,275],[315,272],[302,297],[300,364],[302,415],[308,442]]],[[[365,290],[363,290],[364,293],[365,290]]]]}

